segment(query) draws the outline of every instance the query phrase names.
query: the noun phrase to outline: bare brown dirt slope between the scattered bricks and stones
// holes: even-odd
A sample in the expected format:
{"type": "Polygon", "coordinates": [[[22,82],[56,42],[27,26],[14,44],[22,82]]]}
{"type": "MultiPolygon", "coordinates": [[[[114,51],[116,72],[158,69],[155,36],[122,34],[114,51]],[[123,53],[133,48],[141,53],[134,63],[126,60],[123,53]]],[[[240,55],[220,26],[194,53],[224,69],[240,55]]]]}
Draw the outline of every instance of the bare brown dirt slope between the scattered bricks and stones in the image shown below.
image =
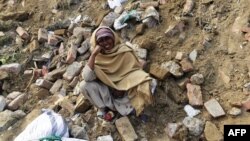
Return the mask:
{"type": "MultiPolygon", "coordinates": [[[[17,11],[28,12],[27,20],[17,22],[17,24],[27,29],[31,36],[34,37],[37,37],[39,28],[47,27],[65,19],[75,18],[79,14],[88,15],[95,23],[98,23],[108,11],[108,9],[102,7],[104,1],[97,0],[81,1],[77,5],[71,6],[68,5],[67,1],[62,1],[60,3],[61,8],[54,13],[52,12],[53,6],[58,3],[55,0],[17,0],[14,1],[14,4],[7,0],[1,0],[0,2],[1,15],[17,11]]],[[[133,116],[129,117],[139,137],[138,140],[172,140],[165,132],[166,125],[167,123],[181,122],[186,117],[183,108],[188,104],[187,90],[181,89],[177,82],[183,78],[190,78],[196,73],[204,76],[204,83],[201,84],[203,102],[215,98],[226,112],[223,117],[213,118],[205,107],[201,106],[197,108],[201,110],[201,114],[196,116],[197,118],[203,121],[211,121],[222,133],[224,124],[250,123],[250,114],[241,106],[241,115],[233,117],[227,114],[233,107],[233,103],[241,103],[249,97],[249,91],[244,88],[244,85],[250,82],[250,66],[248,63],[250,61],[250,44],[245,40],[244,34],[241,32],[243,27],[249,26],[249,0],[199,0],[195,2],[191,15],[181,17],[184,4],[185,1],[167,0],[165,4],[157,8],[160,14],[159,25],[146,28],[142,35],[135,35],[133,29],[128,32],[127,36],[132,40],[132,43],[150,46],[147,71],[149,71],[151,64],[162,64],[175,60],[177,52],[186,54],[191,53],[193,50],[198,52],[197,58],[193,62],[193,71],[185,73],[181,78],[170,76],[158,81],[154,104],[145,109],[145,113],[149,115],[146,123],[133,116]],[[185,21],[183,30],[173,36],[166,36],[165,31],[170,25],[176,24],[179,18],[183,18],[182,20],[185,21]]],[[[14,32],[15,29],[11,29],[6,34],[12,36],[14,32]]],[[[120,32],[117,33],[121,34],[120,32]]],[[[23,52],[27,45],[28,42],[24,41],[22,47],[16,44],[0,46],[0,56],[2,58],[6,55],[12,57],[10,54],[15,54],[14,59],[8,59],[7,63],[25,63],[26,68],[24,70],[32,68],[34,64],[29,61],[31,54],[23,52]]],[[[46,49],[41,47],[38,54],[41,52],[46,52],[46,49]]],[[[33,55],[35,56],[36,53],[33,55]]],[[[8,58],[10,58],[9,56],[8,58]]],[[[26,78],[22,74],[12,75],[7,80],[10,88],[3,95],[7,95],[12,91],[24,91],[29,80],[30,78],[26,78]]],[[[49,97],[47,100],[38,102],[38,99],[30,96],[21,109],[29,113],[35,109],[34,107],[49,107],[49,100],[53,101],[49,97]]],[[[31,116],[30,119],[34,117],[31,116]]],[[[29,118],[18,121],[7,131],[0,132],[0,140],[12,140],[31,121],[27,121],[27,119],[29,118]]],[[[94,126],[94,122],[90,121],[91,127],[94,126]]],[[[105,132],[103,129],[100,130],[100,132],[90,132],[91,140],[95,140],[99,135],[106,135],[105,132],[111,132],[114,140],[121,140],[116,129],[109,129],[105,132]]],[[[196,137],[189,135],[181,137],[181,139],[191,141],[207,140],[205,133],[196,137]]]]}

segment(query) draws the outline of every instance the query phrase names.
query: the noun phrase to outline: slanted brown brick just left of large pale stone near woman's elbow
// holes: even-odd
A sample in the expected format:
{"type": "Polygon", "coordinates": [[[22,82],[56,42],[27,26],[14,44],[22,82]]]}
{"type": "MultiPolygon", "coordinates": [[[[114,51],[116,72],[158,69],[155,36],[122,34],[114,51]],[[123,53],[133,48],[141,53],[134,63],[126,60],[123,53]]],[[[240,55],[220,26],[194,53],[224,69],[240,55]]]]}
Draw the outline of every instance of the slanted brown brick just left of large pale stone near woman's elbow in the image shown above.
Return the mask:
{"type": "Polygon", "coordinates": [[[45,75],[45,79],[48,80],[48,81],[54,82],[57,79],[62,78],[62,76],[65,73],[65,71],[66,71],[65,67],[55,69],[55,70],[49,72],[47,75],[45,75]]]}

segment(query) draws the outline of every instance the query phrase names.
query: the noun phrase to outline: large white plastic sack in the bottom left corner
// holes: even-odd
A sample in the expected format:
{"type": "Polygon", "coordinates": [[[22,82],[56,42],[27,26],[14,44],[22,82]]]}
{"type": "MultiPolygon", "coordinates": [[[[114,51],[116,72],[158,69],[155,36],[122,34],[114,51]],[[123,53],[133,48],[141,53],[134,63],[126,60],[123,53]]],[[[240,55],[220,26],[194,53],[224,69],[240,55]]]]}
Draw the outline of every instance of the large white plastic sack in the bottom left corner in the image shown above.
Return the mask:
{"type": "Polygon", "coordinates": [[[44,109],[14,141],[36,141],[47,136],[69,137],[68,126],[63,117],[53,110],[44,109]]]}

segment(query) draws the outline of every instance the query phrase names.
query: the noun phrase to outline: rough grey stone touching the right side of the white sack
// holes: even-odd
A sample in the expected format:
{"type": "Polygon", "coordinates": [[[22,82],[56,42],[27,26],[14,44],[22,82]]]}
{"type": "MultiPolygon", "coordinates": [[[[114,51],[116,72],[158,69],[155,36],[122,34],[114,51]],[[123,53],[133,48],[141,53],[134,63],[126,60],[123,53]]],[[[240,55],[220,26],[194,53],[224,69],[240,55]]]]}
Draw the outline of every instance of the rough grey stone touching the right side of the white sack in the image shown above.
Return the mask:
{"type": "Polygon", "coordinates": [[[89,139],[86,129],[78,125],[73,125],[71,127],[70,134],[77,139],[89,139]]]}

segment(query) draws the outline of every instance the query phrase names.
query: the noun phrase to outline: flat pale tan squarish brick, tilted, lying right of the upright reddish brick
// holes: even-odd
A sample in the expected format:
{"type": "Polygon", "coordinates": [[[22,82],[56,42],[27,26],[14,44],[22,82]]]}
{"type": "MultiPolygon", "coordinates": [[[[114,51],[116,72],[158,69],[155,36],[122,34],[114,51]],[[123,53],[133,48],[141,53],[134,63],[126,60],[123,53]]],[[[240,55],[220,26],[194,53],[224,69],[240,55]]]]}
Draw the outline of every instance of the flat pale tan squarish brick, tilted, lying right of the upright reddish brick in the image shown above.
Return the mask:
{"type": "Polygon", "coordinates": [[[222,109],[222,107],[220,106],[220,104],[218,103],[217,100],[210,99],[209,101],[207,101],[205,104],[205,108],[207,109],[207,111],[214,117],[220,117],[220,116],[224,116],[225,112],[222,109]]]}

